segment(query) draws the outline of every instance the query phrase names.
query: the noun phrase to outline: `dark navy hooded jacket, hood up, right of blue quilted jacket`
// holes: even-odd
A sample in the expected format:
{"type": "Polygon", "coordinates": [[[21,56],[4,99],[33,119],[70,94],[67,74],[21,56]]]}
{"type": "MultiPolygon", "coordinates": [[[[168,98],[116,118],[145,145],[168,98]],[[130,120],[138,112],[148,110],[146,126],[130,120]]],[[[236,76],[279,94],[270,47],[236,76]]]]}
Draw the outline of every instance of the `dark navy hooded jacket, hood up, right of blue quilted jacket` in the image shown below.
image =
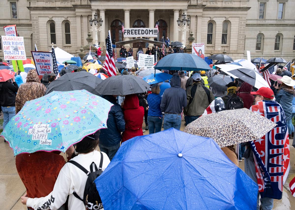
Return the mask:
{"type": "Polygon", "coordinates": [[[180,114],[182,108],[186,107],[186,91],[180,87],[180,77],[173,76],[171,79],[171,88],[164,91],[161,100],[161,111],[180,114]]]}

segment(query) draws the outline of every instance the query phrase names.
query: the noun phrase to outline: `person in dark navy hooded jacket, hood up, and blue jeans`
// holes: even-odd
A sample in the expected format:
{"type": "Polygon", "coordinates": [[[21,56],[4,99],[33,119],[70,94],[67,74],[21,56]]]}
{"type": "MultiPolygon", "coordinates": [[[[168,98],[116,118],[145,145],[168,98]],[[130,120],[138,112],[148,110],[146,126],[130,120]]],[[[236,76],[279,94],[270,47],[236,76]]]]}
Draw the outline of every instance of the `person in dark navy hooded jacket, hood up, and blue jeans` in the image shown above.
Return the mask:
{"type": "Polygon", "coordinates": [[[180,87],[180,77],[171,78],[171,88],[164,91],[161,100],[161,112],[164,112],[164,130],[174,127],[180,130],[181,113],[186,107],[186,91],[180,87]]]}

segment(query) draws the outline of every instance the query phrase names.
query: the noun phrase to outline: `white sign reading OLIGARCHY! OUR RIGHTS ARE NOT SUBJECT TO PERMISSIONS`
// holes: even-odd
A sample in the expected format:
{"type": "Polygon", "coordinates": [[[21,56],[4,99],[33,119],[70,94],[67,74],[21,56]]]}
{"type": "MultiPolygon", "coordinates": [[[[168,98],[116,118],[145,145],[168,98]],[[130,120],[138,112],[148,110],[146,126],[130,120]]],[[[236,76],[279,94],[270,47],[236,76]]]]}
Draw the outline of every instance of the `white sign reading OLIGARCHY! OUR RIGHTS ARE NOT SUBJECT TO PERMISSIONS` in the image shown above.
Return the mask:
{"type": "Polygon", "coordinates": [[[24,37],[2,36],[4,60],[26,60],[24,37]]]}

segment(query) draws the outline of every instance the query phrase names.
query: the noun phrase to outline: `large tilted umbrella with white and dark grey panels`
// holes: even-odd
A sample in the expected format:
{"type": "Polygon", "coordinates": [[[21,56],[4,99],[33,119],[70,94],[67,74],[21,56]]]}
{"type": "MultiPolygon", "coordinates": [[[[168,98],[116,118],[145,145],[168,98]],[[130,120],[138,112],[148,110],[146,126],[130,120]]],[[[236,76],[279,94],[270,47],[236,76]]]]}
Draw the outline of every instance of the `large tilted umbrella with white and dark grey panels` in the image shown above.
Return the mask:
{"type": "Polygon", "coordinates": [[[264,80],[258,72],[252,69],[241,67],[235,64],[219,64],[216,65],[216,67],[220,68],[220,70],[222,70],[230,76],[234,75],[235,77],[245,81],[246,83],[253,85],[255,88],[269,88],[269,85],[266,82],[266,80],[264,80]]]}

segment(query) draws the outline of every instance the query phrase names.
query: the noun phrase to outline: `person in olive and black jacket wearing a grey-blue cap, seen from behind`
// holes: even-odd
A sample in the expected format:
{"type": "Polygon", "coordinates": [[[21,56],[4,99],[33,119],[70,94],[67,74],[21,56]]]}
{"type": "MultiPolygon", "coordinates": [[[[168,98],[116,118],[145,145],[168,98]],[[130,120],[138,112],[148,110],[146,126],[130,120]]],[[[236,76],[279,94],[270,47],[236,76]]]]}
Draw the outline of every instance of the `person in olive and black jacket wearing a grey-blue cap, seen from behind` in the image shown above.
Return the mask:
{"type": "Polygon", "coordinates": [[[186,124],[198,119],[215,99],[210,89],[201,84],[201,75],[195,73],[192,76],[193,85],[186,89],[187,106],[183,110],[186,124]]]}

